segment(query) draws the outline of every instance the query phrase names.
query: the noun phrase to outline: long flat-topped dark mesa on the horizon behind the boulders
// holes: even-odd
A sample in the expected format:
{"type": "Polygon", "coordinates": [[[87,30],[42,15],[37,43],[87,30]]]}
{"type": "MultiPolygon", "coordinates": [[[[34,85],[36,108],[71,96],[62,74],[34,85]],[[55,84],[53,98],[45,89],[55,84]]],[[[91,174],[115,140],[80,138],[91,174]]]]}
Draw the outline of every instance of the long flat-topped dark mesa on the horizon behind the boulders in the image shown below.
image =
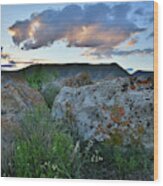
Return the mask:
{"type": "Polygon", "coordinates": [[[116,63],[111,64],[38,64],[27,67],[25,69],[19,71],[3,71],[2,74],[10,74],[10,75],[23,75],[24,72],[26,74],[30,74],[33,71],[44,70],[48,73],[53,73],[57,71],[59,76],[62,78],[73,77],[82,72],[88,72],[92,79],[98,80],[103,78],[116,78],[116,77],[128,77],[129,73],[120,67],[116,63]]]}

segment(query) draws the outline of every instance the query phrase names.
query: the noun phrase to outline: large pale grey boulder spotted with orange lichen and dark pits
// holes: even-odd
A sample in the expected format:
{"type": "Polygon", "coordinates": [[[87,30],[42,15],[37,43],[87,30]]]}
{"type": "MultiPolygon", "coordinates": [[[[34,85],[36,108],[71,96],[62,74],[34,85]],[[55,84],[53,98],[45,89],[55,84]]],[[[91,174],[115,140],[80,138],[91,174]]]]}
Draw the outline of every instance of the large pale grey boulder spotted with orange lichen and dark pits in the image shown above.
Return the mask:
{"type": "Polygon", "coordinates": [[[136,79],[129,78],[63,87],[55,98],[52,117],[65,121],[68,117],[84,140],[140,143],[152,149],[153,90],[149,87],[140,89],[136,79]]]}

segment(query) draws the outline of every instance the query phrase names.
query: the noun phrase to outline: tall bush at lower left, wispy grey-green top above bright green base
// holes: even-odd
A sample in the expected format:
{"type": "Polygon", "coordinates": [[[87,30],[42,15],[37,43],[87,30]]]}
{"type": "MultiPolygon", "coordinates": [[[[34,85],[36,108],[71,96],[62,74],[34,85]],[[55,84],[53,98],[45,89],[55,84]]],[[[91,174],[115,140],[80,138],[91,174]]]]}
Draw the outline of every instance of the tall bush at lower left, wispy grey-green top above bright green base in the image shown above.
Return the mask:
{"type": "Polygon", "coordinates": [[[16,177],[71,178],[72,137],[57,131],[47,108],[26,114],[16,140],[16,177]]]}

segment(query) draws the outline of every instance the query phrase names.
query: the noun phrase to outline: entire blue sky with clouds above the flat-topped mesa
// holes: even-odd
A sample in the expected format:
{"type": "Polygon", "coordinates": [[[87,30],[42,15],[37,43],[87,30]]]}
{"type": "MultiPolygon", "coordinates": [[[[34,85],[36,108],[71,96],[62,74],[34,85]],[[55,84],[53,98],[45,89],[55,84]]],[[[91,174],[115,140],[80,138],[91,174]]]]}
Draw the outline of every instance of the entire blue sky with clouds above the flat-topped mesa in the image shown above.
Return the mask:
{"type": "Polygon", "coordinates": [[[153,10],[153,1],[2,5],[2,70],[116,62],[152,71],[153,10]]]}

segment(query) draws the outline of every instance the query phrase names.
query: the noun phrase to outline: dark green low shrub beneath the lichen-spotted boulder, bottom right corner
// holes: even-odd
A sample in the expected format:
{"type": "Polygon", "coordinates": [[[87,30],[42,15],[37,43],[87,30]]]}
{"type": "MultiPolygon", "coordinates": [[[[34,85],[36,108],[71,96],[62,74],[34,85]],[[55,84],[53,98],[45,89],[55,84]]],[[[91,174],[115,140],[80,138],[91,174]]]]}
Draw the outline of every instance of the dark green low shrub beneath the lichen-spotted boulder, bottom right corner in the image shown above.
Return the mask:
{"type": "MultiPolygon", "coordinates": [[[[153,175],[153,153],[143,147],[131,145],[110,145],[100,143],[97,147],[103,157],[106,166],[115,171],[116,179],[137,179],[145,180],[153,175]]],[[[115,179],[114,178],[114,179],[115,179]]]]}

